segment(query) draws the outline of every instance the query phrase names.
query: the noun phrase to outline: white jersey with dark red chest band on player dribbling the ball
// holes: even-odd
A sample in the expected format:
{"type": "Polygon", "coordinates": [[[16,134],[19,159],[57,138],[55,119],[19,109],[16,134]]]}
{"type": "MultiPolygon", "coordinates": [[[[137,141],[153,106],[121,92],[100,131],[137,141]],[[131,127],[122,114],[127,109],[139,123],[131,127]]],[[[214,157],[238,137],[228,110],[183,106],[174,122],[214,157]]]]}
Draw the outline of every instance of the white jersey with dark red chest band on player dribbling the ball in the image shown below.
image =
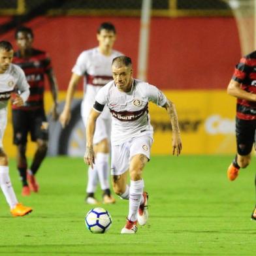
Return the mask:
{"type": "MultiPolygon", "coordinates": [[[[151,101],[158,106],[167,103],[165,95],[155,86],[134,79],[131,91],[120,91],[114,81],[109,82],[99,90],[95,101],[108,106],[112,114],[112,145],[120,145],[123,142],[137,136],[148,135],[153,138],[153,127],[150,124],[148,103],[151,101]]],[[[94,109],[97,109],[97,103],[94,109]]]]}

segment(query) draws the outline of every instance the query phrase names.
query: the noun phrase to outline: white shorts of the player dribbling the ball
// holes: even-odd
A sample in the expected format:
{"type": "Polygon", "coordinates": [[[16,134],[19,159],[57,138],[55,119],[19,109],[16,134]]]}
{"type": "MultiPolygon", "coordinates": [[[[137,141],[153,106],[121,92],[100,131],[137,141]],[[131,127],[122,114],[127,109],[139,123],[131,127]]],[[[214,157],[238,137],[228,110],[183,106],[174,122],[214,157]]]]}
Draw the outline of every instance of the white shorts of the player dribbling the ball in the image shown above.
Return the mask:
{"type": "Polygon", "coordinates": [[[140,136],[121,145],[111,146],[111,175],[121,175],[126,172],[134,155],[142,154],[150,159],[152,142],[152,137],[140,136]]]}

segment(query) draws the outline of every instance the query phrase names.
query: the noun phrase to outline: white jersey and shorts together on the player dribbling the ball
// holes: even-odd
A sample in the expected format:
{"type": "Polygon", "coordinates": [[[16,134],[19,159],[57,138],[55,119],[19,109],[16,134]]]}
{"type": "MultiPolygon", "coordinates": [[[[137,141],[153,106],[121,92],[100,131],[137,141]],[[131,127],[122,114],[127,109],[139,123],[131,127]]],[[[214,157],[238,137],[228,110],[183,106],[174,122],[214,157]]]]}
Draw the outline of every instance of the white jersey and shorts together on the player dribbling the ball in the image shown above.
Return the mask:
{"type": "Polygon", "coordinates": [[[133,155],[142,153],[150,159],[153,141],[153,127],[148,114],[150,101],[164,106],[167,98],[155,86],[136,79],[128,93],[116,88],[114,81],[97,93],[93,108],[101,112],[100,108],[106,105],[112,114],[112,175],[125,172],[133,155]],[[101,106],[97,107],[99,104],[101,106]]]}

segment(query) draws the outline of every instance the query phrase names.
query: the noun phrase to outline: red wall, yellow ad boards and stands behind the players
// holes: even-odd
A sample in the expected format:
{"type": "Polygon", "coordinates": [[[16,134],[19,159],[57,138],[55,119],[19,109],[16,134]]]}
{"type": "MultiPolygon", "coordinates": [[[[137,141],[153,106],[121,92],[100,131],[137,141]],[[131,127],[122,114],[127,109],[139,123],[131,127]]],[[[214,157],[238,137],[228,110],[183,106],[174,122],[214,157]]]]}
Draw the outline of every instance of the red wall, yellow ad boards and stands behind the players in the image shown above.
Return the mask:
{"type": "MultiPolygon", "coordinates": [[[[0,39],[15,45],[16,25],[27,25],[35,33],[35,48],[46,50],[52,58],[59,84],[59,102],[71,69],[82,50],[97,46],[95,33],[101,22],[116,25],[114,48],[133,59],[135,77],[138,62],[140,7],[142,1],[25,1],[0,2],[0,39]]],[[[148,82],[162,89],[178,110],[185,154],[234,153],[235,99],[226,93],[234,65],[241,56],[236,20],[223,1],[152,1],[148,82]]],[[[46,110],[51,97],[46,91],[46,110]]],[[[76,93],[82,97],[82,84],[76,93]]],[[[78,101],[79,103],[79,101],[78,101]]],[[[60,107],[61,108],[61,105],[60,107]]],[[[170,153],[170,126],[164,110],[150,106],[155,129],[153,154],[170,153]]],[[[78,108],[76,107],[76,112],[78,108]]],[[[50,123],[49,150],[54,155],[63,148],[59,123],[50,123]]],[[[10,114],[4,140],[10,157],[12,146],[10,114]]],[[[70,135],[70,134],[69,134],[70,135]]],[[[70,155],[83,153],[81,125],[66,143],[70,155]],[[71,149],[71,150],[70,150],[71,149]]],[[[65,137],[67,139],[67,137],[65,137]]],[[[31,155],[35,145],[29,144],[31,155]]]]}

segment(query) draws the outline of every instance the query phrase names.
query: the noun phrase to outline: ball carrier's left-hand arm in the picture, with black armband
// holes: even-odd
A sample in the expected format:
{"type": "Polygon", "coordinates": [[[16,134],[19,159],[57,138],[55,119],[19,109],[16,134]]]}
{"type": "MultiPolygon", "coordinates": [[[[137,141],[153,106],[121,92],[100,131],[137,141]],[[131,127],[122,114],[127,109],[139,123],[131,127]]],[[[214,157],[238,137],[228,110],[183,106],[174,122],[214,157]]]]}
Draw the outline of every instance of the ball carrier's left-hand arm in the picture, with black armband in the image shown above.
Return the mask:
{"type": "Polygon", "coordinates": [[[95,163],[95,154],[93,152],[93,136],[95,133],[96,120],[100,114],[101,112],[92,108],[91,112],[89,113],[88,123],[86,125],[86,153],[84,153],[84,163],[90,165],[91,168],[93,168],[93,164],[95,163]]]}

